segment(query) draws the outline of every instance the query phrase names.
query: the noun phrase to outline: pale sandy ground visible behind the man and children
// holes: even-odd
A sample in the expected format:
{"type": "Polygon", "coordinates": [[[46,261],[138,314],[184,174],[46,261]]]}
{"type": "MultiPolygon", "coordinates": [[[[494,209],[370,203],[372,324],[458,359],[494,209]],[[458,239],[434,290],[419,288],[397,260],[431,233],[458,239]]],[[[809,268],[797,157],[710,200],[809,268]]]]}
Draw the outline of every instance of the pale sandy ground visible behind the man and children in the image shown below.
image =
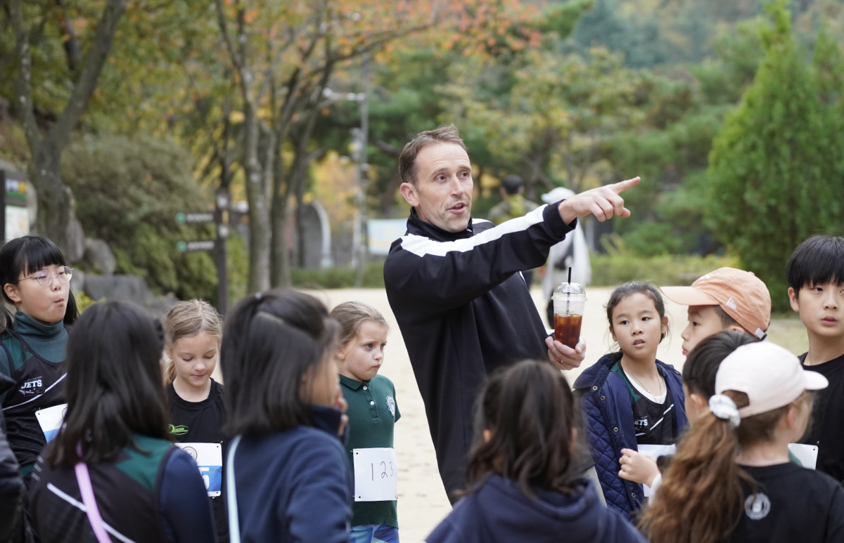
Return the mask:
{"type": "MultiPolygon", "coordinates": [[[[606,312],[603,304],[611,288],[587,288],[587,307],[583,316],[582,337],[587,343],[587,357],[582,368],[565,372],[570,384],[584,368],[609,352],[606,312]]],[[[358,300],[379,309],[390,324],[386,359],[381,374],[392,379],[396,386],[397,403],[402,418],[396,424],[395,448],[399,465],[398,523],[401,539],[417,543],[430,533],[436,524],[451,511],[436,469],[434,445],[430,439],[425,406],[416,387],[413,368],[404,347],[401,331],[387,303],[387,293],[377,289],[343,289],[310,291],[322,299],[329,308],[348,301],[358,300]]],[[[546,301],[538,288],[533,288],[533,300],[540,315],[545,314],[546,301]]],[[[682,368],[684,357],[680,352],[683,340],[680,333],[686,325],[686,309],[666,300],[670,335],[660,345],[657,358],[682,368]]],[[[805,335],[799,321],[782,320],[771,325],[771,339],[781,342],[795,353],[805,351],[805,335]]]]}

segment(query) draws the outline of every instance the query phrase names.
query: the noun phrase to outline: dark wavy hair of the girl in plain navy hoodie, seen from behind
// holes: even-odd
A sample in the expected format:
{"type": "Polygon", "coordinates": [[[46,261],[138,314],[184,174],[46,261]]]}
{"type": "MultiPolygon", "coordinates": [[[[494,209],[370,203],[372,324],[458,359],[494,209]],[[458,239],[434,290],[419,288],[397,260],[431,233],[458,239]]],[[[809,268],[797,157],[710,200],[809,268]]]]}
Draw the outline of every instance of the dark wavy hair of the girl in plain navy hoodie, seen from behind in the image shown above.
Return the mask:
{"type": "Polygon", "coordinates": [[[492,474],[518,481],[527,497],[536,497],[537,489],[573,492],[576,411],[559,369],[525,360],[495,371],[479,395],[476,419],[463,493],[492,474]],[[492,433],[488,442],[484,430],[492,433]]]}

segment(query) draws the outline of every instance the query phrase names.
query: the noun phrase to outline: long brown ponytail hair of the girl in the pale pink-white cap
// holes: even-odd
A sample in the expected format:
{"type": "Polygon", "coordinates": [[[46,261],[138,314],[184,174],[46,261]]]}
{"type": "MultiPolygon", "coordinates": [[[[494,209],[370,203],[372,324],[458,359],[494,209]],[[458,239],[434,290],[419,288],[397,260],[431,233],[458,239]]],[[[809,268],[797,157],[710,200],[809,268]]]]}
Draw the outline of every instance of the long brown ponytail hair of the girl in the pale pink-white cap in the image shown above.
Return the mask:
{"type": "MultiPolygon", "coordinates": [[[[744,392],[727,390],[738,408],[744,392]]],[[[716,543],[741,520],[745,493],[756,481],[736,462],[739,447],[771,441],[777,422],[791,406],[808,403],[803,392],[791,404],[741,419],[738,427],[706,412],[679,444],[663,484],[642,516],[640,528],[651,543],[716,543]]]]}

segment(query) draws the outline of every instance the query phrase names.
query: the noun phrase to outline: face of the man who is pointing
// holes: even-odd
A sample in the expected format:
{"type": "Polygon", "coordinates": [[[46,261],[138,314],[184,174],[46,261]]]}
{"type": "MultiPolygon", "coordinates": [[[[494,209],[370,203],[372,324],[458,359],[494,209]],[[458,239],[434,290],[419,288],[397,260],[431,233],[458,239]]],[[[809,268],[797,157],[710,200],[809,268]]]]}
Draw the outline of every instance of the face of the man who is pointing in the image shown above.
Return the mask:
{"type": "Polygon", "coordinates": [[[402,196],[425,223],[460,232],[472,211],[472,164],[457,143],[433,143],[416,155],[416,183],[402,183],[402,196]]]}

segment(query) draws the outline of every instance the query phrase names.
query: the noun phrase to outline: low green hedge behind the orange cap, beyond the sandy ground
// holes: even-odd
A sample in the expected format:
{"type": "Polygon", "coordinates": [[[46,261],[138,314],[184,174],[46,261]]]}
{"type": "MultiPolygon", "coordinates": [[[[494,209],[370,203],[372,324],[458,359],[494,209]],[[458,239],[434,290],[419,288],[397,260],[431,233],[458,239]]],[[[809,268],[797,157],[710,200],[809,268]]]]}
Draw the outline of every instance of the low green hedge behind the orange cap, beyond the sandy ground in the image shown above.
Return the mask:
{"type": "Polygon", "coordinates": [[[741,267],[734,257],[716,255],[592,255],[591,263],[591,284],[596,287],[627,281],[654,282],[659,287],[690,285],[696,277],[717,268],[741,267]]]}

